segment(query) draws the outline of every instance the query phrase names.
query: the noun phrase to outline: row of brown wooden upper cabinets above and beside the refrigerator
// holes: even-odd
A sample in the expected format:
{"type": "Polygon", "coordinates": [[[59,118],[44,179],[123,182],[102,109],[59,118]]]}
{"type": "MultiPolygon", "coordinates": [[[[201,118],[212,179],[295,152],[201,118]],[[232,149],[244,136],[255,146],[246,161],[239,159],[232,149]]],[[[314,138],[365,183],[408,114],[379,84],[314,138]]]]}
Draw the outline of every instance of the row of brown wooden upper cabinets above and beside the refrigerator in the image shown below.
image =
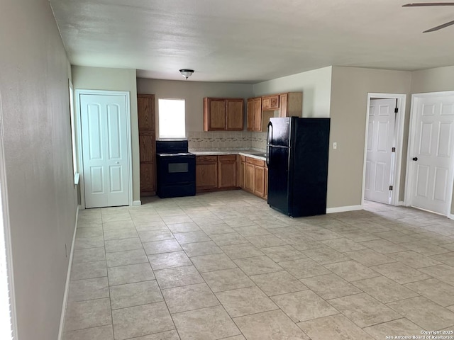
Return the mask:
{"type": "Polygon", "coordinates": [[[302,107],[302,92],[248,98],[248,131],[266,131],[272,117],[302,117],[302,107]]]}

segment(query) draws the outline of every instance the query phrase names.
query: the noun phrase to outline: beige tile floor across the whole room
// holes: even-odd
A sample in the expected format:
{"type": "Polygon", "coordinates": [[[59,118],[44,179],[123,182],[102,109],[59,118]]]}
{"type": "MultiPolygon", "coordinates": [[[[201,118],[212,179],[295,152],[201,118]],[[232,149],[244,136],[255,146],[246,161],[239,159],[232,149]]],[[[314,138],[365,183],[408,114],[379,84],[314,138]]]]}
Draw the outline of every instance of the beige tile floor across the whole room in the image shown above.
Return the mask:
{"type": "Polygon", "coordinates": [[[366,340],[454,329],[454,222],[244,191],[79,213],[65,340],[366,340]]]}

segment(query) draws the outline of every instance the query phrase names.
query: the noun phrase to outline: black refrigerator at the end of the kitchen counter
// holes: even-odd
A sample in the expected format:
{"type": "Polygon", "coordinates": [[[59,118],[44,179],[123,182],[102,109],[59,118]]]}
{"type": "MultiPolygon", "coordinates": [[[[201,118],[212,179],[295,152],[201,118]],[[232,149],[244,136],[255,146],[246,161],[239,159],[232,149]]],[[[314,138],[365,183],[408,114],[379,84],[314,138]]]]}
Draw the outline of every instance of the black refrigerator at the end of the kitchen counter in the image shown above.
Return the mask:
{"type": "Polygon", "coordinates": [[[268,204],[291,217],[326,214],[329,118],[270,118],[268,204]]]}

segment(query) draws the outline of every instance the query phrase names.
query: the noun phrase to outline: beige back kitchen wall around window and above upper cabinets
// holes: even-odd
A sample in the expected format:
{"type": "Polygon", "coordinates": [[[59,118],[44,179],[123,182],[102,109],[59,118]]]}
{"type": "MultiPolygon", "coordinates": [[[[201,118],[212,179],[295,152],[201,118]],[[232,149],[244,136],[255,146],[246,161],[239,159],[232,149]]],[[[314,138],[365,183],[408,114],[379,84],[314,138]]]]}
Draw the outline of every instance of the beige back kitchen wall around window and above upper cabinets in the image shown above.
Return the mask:
{"type": "Polygon", "coordinates": [[[158,126],[159,98],[179,98],[186,103],[186,131],[204,130],[204,97],[250,98],[250,84],[208,83],[201,81],[172,81],[159,79],[137,79],[138,94],[154,94],[156,103],[156,126],[158,126]]]}

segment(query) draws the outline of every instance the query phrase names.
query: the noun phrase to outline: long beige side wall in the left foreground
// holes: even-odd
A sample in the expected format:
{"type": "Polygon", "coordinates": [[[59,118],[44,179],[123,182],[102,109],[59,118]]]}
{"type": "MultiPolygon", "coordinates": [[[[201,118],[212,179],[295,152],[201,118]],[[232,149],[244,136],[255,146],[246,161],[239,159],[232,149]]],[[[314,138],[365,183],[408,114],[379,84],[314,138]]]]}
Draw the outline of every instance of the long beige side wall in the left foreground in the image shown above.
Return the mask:
{"type": "Polygon", "coordinates": [[[4,0],[0,94],[18,339],[57,339],[77,211],[68,60],[48,0],[4,0]]]}

